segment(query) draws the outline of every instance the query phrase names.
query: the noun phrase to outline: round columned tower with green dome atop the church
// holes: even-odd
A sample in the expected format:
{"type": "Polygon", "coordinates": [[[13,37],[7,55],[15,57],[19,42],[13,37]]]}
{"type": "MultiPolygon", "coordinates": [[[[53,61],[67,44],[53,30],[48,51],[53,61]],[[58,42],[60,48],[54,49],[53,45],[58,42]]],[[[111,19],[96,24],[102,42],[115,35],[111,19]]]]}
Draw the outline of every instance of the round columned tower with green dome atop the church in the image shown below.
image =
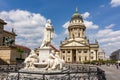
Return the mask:
{"type": "Polygon", "coordinates": [[[82,16],[78,13],[78,8],[76,8],[76,11],[72,15],[70,24],[68,26],[69,39],[85,39],[85,29],[86,27],[83,23],[82,16]]]}

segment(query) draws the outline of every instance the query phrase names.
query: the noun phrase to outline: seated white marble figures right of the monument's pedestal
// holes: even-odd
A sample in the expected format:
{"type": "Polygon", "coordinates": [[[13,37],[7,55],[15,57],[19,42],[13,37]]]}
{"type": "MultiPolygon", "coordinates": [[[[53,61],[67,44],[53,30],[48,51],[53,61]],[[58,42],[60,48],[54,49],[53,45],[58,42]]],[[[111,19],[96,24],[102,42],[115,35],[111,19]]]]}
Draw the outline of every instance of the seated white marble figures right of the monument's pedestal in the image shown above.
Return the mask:
{"type": "Polygon", "coordinates": [[[58,53],[55,53],[53,50],[49,55],[48,65],[45,68],[46,70],[62,69],[62,64],[64,60],[60,59],[58,53]]]}

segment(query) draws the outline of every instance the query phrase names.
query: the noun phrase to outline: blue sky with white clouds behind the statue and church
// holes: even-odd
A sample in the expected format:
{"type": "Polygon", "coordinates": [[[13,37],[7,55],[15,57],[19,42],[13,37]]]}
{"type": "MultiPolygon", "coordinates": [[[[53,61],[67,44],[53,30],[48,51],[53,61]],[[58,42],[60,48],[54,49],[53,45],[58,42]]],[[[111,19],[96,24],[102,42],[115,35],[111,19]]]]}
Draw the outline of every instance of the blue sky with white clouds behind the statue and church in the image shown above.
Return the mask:
{"type": "Polygon", "coordinates": [[[52,44],[59,49],[60,41],[68,37],[76,7],[90,43],[98,40],[107,55],[120,49],[120,0],[0,0],[0,19],[7,22],[5,30],[14,28],[16,44],[31,49],[41,45],[44,25],[50,19],[55,30],[52,44]]]}

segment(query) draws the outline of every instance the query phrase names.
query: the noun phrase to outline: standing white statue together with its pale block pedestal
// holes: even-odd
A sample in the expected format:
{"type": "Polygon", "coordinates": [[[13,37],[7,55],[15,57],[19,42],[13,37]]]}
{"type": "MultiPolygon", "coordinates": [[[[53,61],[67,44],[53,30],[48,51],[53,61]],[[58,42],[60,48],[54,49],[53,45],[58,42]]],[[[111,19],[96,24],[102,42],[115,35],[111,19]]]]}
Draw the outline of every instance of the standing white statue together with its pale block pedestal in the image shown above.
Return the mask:
{"type": "Polygon", "coordinates": [[[54,28],[51,24],[51,20],[48,19],[45,24],[44,37],[39,49],[39,64],[47,64],[47,59],[51,52],[50,44],[53,39],[54,28]]]}

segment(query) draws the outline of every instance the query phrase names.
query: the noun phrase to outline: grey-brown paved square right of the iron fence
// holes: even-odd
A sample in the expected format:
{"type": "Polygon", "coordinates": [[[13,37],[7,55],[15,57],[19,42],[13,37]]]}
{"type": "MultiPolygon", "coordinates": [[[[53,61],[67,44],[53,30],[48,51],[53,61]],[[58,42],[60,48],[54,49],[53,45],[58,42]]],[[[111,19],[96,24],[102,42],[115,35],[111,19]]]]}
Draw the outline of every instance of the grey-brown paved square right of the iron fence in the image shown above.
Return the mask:
{"type": "Polygon", "coordinates": [[[107,80],[120,80],[120,66],[119,69],[117,69],[115,65],[102,65],[99,67],[105,71],[107,80]]]}

